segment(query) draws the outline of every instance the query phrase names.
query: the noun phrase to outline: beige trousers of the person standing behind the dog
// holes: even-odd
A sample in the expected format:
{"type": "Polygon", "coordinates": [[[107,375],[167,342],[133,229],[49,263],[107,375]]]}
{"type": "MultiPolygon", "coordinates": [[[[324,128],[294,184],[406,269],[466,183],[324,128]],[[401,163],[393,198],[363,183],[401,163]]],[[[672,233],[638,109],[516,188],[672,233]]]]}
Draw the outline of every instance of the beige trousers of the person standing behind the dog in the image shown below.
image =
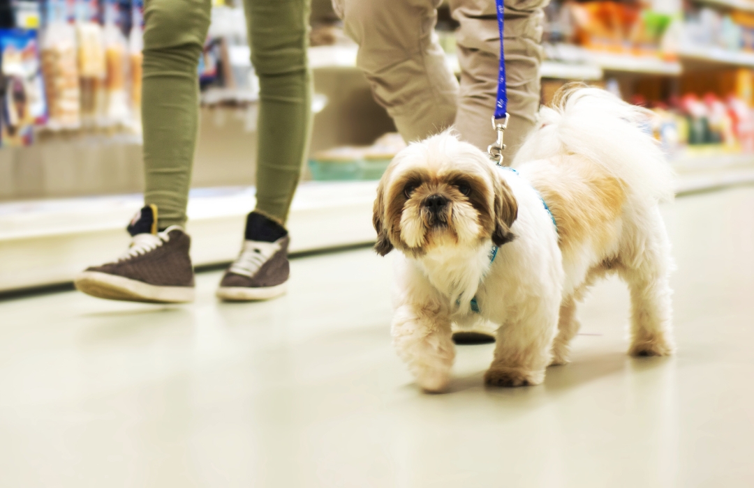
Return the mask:
{"type": "MultiPolygon", "coordinates": [[[[500,36],[495,0],[449,0],[461,24],[456,38],[460,86],[447,68],[434,26],[441,0],[333,0],[345,32],[359,44],[357,65],[403,139],[422,139],[455,124],[486,150],[497,95],[500,36]]],[[[507,162],[534,127],[540,100],[542,8],[548,0],[505,0],[505,66],[510,124],[507,162]]]]}

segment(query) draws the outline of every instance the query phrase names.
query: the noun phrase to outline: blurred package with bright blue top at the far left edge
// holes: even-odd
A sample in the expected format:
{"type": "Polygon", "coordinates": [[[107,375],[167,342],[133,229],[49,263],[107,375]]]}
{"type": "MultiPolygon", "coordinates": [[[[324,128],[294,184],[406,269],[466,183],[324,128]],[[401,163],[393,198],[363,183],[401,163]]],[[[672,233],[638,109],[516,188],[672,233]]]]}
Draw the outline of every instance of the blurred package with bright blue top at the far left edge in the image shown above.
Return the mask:
{"type": "Polygon", "coordinates": [[[30,145],[34,124],[44,122],[47,114],[36,32],[0,29],[0,59],[5,93],[0,141],[3,146],[30,145]]]}

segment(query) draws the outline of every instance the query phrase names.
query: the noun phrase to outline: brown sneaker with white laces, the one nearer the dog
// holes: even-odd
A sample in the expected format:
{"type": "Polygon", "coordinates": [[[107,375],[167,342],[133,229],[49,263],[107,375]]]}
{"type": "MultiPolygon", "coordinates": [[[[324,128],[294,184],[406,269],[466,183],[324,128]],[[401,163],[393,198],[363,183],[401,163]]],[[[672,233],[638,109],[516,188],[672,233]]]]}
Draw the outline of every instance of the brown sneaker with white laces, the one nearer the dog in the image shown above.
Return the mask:
{"type": "Polygon", "coordinates": [[[241,254],[222,276],[217,296],[228,301],[268,300],[287,290],[288,231],[264,215],[251,212],[241,254]]]}

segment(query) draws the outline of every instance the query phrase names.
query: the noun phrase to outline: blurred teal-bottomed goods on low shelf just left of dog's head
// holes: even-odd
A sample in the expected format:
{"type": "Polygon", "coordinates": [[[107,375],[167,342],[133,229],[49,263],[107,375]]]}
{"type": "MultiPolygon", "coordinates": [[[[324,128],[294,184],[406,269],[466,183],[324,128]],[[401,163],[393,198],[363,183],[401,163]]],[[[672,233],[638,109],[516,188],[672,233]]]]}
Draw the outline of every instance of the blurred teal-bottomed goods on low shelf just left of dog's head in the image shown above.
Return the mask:
{"type": "Polygon", "coordinates": [[[377,180],[406,142],[398,133],[387,133],[370,146],[345,146],[314,154],[309,160],[316,181],[377,180]]]}

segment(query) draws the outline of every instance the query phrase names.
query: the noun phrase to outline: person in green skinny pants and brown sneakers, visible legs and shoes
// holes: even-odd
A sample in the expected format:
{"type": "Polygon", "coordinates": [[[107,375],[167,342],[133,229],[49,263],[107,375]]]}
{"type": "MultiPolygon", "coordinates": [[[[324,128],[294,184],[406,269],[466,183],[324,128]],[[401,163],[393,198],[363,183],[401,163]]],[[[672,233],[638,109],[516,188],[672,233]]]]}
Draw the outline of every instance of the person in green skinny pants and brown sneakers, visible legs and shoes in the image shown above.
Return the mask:
{"type": "MultiPolygon", "coordinates": [[[[285,228],[311,129],[309,0],[244,0],[251,61],[259,76],[256,209],[241,253],[222,277],[224,300],[264,300],[285,292],[285,228]]],[[[198,132],[198,61],[211,0],[146,0],[143,101],[145,206],[127,227],[129,249],[87,268],[76,288],[95,297],[191,301],[191,239],[183,230],[198,132]]]]}

